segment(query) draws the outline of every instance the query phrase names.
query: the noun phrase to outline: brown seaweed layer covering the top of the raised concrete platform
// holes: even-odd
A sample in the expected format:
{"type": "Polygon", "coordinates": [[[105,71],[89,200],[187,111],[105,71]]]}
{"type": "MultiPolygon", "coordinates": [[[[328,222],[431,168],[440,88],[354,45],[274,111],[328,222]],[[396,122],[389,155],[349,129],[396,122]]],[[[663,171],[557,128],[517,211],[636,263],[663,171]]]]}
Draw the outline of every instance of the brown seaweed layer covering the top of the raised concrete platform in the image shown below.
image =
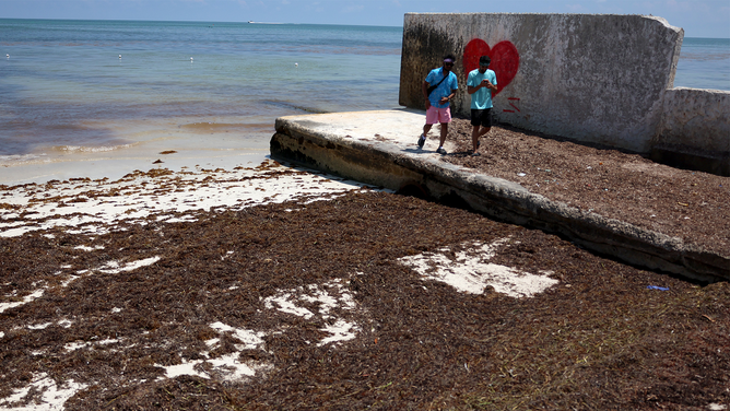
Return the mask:
{"type": "Polygon", "coordinates": [[[730,177],[506,126],[493,127],[481,140],[481,155],[470,156],[464,119],[454,120],[448,139],[457,151],[444,161],[730,256],[730,177]]]}

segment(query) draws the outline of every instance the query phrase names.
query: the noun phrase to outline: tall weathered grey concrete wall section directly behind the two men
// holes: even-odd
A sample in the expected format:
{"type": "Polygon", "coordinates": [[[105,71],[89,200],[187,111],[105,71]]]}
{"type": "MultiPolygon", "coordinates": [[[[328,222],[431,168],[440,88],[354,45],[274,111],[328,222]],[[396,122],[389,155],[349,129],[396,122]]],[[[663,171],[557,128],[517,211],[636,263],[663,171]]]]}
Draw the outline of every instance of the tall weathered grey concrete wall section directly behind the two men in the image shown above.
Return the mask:
{"type": "Polygon", "coordinates": [[[495,51],[510,42],[519,67],[494,98],[498,121],[646,153],[664,92],[674,83],[683,37],[682,28],[643,15],[408,13],[400,104],[423,109],[423,79],[452,52],[461,89],[452,109],[467,115],[467,45],[482,39],[495,51]]]}

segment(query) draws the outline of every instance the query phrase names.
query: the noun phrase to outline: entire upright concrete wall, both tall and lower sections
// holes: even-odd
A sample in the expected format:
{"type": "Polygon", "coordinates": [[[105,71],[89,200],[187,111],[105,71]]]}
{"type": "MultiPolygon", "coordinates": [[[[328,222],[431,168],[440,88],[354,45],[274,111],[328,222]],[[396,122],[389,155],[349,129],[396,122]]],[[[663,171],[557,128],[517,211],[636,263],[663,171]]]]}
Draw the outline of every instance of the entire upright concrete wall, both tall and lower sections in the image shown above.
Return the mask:
{"type": "Polygon", "coordinates": [[[497,121],[728,175],[730,93],[672,89],[683,37],[646,15],[408,13],[399,101],[423,109],[421,83],[450,52],[452,111],[467,116],[467,73],[485,54],[497,121]]]}

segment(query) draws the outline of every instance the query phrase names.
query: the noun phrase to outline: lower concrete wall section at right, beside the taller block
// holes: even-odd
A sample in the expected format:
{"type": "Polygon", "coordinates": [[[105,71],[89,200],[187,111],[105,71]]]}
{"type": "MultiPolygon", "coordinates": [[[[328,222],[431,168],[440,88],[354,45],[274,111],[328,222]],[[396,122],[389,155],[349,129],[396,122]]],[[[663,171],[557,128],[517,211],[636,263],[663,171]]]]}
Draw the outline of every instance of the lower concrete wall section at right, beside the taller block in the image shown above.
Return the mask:
{"type": "Polygon", "coordinates": [[[730,176],[730,92],[676,87],[664,94],[651,157],[730,176]]]}

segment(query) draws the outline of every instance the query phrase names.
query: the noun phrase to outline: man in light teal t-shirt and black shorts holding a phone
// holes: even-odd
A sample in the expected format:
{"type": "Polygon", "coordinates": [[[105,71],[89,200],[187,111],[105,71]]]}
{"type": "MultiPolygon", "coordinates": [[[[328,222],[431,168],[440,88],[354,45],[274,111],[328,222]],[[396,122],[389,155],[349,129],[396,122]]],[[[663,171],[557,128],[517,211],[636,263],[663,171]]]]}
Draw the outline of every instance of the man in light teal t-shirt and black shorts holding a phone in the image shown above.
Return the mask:
{"type": "Polygon", "coordinates": [[[479,139],[492,129],[492,93],[497,91],[497,75],[488,70],[492,59],[479,58],[479,69],[472,70],[467,79],[467,93],[471,95],[471,155],[480,155],[479,139]],[[481,126],[481,130],[480,130],[481,126]]]}

